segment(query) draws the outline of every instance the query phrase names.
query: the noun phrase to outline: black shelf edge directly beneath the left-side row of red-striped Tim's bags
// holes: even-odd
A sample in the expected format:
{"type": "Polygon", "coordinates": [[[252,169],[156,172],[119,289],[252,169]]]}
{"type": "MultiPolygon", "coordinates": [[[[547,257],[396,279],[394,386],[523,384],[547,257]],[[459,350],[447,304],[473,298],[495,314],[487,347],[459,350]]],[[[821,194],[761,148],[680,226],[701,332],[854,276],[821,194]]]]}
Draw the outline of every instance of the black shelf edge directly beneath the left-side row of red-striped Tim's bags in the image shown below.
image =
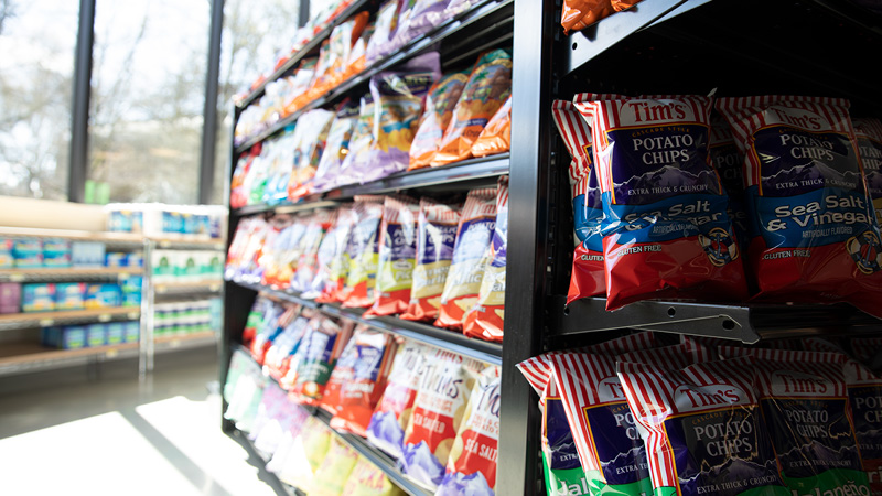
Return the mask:
{"type": "MultiPolygon", "coordinates": [[[[234,281],[235,282],[235,281],[234,281]]],[[[475,358],[487,364],[502,365],[503,346],[498,343],[491,343],[483,339],[466,337],[456,331],[450,331],[433,325],[419,322],[405,321],[394,316],[364,316],[364,309],[344,309],[340,304],[323,303],[319,304],[312,300],[304,300],[295,293],[267,288],[260,284],[249,284],[236,282],[236,284],[248,288],[252,291],[263,292],[270,298],[289,301],[319,309],[325,314],[349,319],[352,321],[368,325],[377,331],[397,334],[408,339],[413,339],[428,345],[449,349],[462,356],[475,358]]]]}

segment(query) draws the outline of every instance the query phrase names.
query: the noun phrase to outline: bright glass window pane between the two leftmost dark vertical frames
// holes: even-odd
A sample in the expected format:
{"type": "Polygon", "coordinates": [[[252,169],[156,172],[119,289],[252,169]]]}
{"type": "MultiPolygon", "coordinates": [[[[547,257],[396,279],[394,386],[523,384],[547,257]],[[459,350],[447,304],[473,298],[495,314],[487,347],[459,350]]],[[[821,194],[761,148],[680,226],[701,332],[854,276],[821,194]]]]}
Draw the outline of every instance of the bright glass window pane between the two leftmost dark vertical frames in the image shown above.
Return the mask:
{"type": "Polygon", "coordinates": [[[111,202],[196,203],[209,8],[97,0],[88,177],[111,202]]]}

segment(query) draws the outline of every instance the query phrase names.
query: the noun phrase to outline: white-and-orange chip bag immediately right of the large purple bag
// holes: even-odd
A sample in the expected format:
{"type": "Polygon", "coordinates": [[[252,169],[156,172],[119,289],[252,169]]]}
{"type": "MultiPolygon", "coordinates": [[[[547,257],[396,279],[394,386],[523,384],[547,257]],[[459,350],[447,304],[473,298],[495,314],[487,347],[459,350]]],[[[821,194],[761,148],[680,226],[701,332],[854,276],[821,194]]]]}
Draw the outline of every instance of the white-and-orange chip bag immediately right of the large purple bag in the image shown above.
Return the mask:
{"type": "Polygon", "coordinates": [[[453,117],[453,107],[460,101],[467,82],[469,73],[453,73],[442,77],[429,90],[429,95],[426,96],[426,110],[410,143],[408,170],[428,168],[432,163],[444,137],[444,130],[453,117]]]}

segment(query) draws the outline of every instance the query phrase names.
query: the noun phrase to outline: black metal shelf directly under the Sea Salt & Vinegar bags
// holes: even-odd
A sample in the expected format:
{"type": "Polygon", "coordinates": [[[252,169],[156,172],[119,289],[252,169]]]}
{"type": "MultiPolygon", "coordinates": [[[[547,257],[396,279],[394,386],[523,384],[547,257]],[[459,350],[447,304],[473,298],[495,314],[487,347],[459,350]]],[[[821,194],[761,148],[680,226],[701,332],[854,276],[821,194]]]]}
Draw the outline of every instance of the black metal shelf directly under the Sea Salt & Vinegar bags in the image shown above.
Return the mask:
{"type": "Polygon", "coordinates": [[[604,310],[606,300],[589,298],[564,306],[566,299],[552,299],[557,325],[552,336],[620,330],[674,332],[697,336],[756,343],[760,339],[822,335],[835,332],[862,333],[882,328],[882,320],[852,306],[755,304],[750,306],[642,301],[620,310],[604,310]]]}

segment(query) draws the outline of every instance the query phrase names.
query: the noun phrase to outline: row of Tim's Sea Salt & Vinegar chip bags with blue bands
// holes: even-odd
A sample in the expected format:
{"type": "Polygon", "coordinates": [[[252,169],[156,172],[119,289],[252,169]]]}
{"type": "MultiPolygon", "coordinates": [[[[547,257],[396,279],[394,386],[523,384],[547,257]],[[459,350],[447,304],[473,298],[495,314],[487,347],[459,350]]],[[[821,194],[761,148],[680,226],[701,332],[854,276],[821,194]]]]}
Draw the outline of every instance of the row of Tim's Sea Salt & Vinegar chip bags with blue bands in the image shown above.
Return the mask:
{"type": "Polygon", "coordinates": [[[848,107],[789,96],[556,101],[579,242],[568,302],[848,302],[879,313],[868,180],[882,131],[859,120],[858,138],[848,107]]]}

